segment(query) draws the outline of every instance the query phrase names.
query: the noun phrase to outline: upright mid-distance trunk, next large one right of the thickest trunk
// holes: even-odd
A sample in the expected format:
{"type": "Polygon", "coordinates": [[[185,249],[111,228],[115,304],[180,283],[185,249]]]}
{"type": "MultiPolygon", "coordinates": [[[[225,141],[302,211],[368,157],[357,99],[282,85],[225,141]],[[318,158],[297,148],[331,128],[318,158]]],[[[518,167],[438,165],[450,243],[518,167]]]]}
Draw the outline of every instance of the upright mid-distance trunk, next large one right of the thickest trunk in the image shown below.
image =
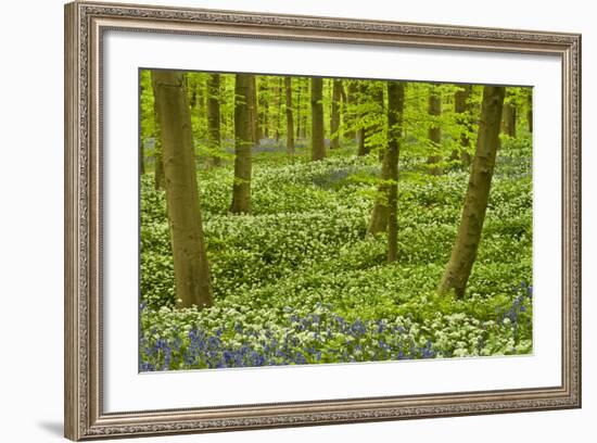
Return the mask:
{"type": "Polygon", "coordinates": [[[230,212],[251,212],[251,148],[255,140],[252,74],[237,74],[234,85],[234,183],[230,212]]]}

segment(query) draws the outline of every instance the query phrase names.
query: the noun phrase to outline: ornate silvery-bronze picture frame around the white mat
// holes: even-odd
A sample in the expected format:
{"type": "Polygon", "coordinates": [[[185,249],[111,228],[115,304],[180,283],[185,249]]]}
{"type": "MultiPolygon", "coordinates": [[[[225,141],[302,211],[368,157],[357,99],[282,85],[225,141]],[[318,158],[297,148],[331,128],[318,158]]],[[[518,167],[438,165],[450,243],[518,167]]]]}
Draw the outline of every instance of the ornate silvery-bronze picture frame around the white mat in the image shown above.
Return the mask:
{"type": "MultiPolygon", "coordinates": [[[[213,432],[581,407],[581,36],[73,2],[65,7],[65,436],[213,432]],[[561,62],[561,382],[522,389],[106,412],[103,41],[111,30],[549,55],[561,62]]],[[[134,294],[136,296],[136,294],[134,294]]],[[[131,321],[135,321],[131,319],[131,321]]]]}

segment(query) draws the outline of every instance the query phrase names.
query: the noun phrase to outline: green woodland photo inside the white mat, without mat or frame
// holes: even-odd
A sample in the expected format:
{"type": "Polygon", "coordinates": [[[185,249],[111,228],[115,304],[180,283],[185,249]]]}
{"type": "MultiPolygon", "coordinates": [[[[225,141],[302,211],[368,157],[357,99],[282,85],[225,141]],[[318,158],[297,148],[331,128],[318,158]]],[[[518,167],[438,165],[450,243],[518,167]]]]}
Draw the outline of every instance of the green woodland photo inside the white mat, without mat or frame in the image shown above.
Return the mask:
{"type": "Polygon", "coordinates": [[[141,68],[138,204],[141,372],[533,353],[532,87],[141,68]]]}

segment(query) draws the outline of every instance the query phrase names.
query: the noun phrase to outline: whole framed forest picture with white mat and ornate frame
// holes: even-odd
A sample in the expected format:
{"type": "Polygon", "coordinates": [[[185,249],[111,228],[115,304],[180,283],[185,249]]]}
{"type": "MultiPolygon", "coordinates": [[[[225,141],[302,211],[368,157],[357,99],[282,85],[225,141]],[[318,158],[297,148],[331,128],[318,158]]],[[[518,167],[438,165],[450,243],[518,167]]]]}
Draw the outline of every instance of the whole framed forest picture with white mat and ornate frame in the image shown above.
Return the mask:
{"type": "Polygon", "coordinates": [[[65,435],[581,407],[581,36],[65,7],[65,435]]]}

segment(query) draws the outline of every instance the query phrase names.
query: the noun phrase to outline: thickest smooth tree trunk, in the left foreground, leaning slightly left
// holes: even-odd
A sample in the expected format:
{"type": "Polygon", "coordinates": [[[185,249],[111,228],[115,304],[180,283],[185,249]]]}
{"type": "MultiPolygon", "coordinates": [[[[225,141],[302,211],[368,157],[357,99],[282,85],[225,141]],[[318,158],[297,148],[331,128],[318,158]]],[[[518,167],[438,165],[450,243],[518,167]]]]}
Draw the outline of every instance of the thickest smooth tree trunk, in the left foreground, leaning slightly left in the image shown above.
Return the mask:
{"type": "Polygon", "coordinates": [[[176,71],[152,71],[166,177],[176,296],[182,307],[211,306],[209,265],[196,182],[191,115],[185,77],[176,71]]]}

